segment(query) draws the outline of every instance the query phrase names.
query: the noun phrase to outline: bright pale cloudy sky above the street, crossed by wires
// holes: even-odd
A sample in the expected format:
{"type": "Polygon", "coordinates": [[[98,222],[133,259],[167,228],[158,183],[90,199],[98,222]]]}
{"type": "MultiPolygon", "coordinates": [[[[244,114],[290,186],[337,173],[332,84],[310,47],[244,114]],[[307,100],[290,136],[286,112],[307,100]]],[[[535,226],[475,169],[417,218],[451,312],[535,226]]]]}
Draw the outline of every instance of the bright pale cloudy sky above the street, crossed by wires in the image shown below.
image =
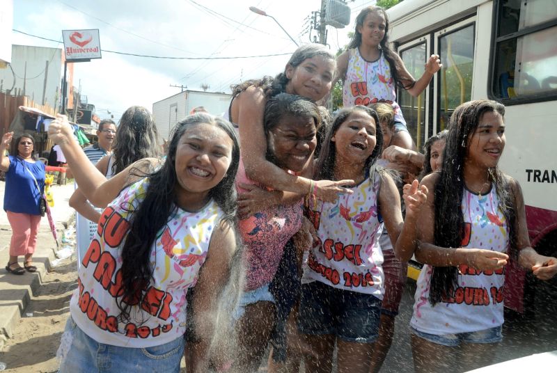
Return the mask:
{"type": "MultiPolygon", "coordinates": [[[[353,22],[359,10],[375,1],[347,1],[353,22]]],[[[299,44],[310,41],[309,17],[320,0],[13,0],[13,29],[59,40],[51,42],[13,32],[15,45],[63,48],[63,29],[99,29],[102,49],[173,57],[229,57],[291,54],[296,46],[269,17],[272,15],[299,44]]],[[[344,29],[327,26],[327,42],[336,52],[347,42],[344,29]]],[[[311,32],[311,38],[317,35],[311,32]]],[[[226,60],[171,60],[124,56],[107,51],[102,59],[76,63],[74,86],[95,104],[100,118],[111,111],[118,119],[127,107],[146,106],[180,92],[170,85],[230,92],[230,85],[275,75],[289,55],[226,60]]]]}

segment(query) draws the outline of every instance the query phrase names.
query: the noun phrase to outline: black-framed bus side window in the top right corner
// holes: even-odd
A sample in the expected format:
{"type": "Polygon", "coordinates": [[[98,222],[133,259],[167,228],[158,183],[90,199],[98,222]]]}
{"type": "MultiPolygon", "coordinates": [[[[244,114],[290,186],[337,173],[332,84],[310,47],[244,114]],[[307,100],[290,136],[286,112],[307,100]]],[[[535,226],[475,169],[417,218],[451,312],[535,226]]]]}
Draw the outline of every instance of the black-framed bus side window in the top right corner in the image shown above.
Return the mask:
{"type": "Polygon", "coordinates": [[[492,94],[510,100],[557,93],[557,3],[496,1],[492,94]]]}

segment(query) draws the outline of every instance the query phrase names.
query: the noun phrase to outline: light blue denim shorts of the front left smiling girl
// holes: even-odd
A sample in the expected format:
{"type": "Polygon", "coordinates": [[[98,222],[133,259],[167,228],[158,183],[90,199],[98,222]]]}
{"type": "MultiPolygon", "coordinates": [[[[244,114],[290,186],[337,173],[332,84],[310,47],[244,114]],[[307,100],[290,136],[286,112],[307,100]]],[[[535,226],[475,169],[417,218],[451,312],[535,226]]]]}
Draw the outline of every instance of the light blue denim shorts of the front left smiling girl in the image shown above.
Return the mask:
{"type": "Polygon", "coordinates": [[[70,316],[56,357],[60,373],[180,372],[184,337],[155,347],[131,348],[99,343],[77,326],[70,316]]]}

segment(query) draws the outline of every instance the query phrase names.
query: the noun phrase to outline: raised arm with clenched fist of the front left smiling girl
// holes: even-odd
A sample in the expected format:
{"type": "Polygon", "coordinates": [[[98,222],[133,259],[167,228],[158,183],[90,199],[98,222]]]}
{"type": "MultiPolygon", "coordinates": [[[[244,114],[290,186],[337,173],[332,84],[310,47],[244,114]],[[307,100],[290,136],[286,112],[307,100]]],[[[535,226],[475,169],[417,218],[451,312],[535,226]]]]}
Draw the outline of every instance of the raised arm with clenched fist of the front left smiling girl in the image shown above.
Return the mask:
{"type": "Polygon", "coordinates": [[[79,189],[81,189],[81,193],[96,207],[107,207],[126,185],[141,178],[141,176],[135,176],[132,170],[146,172],[157,162],[156,159],[141,159],[107,180],[91,164],[91,161],[74,139],[68,117],[57,114],[56,119],[49,125],[48,134],[49,138],[60,145],[64,152],[68,165],[74,170],[74,178],[79,189]]]}

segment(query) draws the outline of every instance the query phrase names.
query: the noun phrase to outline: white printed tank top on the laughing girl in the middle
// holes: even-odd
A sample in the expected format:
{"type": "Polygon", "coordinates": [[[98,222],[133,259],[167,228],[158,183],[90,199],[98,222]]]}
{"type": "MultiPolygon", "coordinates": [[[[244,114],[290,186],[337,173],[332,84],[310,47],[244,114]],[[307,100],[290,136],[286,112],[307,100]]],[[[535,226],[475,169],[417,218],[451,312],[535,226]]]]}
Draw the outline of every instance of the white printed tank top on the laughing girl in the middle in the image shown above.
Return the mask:
{"type": "Polygon", "coordinates": [[[381,177],[366,178],[337,203],[317,200],[309,212],[319,240],[311,248],[304,283],[317,280],[337,289],[383,298],[383,254],[377,216],[381,177]]]}

